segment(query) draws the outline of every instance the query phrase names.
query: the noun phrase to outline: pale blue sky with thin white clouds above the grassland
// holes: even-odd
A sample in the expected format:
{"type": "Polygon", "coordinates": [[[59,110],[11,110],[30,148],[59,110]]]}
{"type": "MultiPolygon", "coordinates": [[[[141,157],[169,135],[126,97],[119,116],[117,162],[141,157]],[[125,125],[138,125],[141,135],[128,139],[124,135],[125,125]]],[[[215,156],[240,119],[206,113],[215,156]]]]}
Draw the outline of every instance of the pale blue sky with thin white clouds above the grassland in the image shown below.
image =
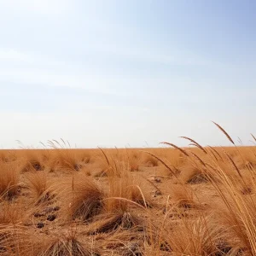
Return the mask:
{"type": "Polygon", "coordinates": [[[0,0],[0,148],[244,145],[256,2],[0,0]],[[20,143],[17,143],[20,141],[20,143]],[[239,144],[237,142],[237,144],[239,144]]]}

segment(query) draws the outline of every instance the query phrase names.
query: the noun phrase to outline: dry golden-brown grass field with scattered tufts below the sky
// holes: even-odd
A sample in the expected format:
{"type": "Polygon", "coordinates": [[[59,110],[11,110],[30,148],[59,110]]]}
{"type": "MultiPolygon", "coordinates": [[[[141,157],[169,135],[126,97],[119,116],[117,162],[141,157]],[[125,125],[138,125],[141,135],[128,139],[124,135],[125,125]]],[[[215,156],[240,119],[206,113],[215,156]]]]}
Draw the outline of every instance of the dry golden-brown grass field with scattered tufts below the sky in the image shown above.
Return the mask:
{"type": "Polygon", "coordinates": [[[256,148],[184,139],[0,151],[0,254],[256,255],[256,148]]]}

